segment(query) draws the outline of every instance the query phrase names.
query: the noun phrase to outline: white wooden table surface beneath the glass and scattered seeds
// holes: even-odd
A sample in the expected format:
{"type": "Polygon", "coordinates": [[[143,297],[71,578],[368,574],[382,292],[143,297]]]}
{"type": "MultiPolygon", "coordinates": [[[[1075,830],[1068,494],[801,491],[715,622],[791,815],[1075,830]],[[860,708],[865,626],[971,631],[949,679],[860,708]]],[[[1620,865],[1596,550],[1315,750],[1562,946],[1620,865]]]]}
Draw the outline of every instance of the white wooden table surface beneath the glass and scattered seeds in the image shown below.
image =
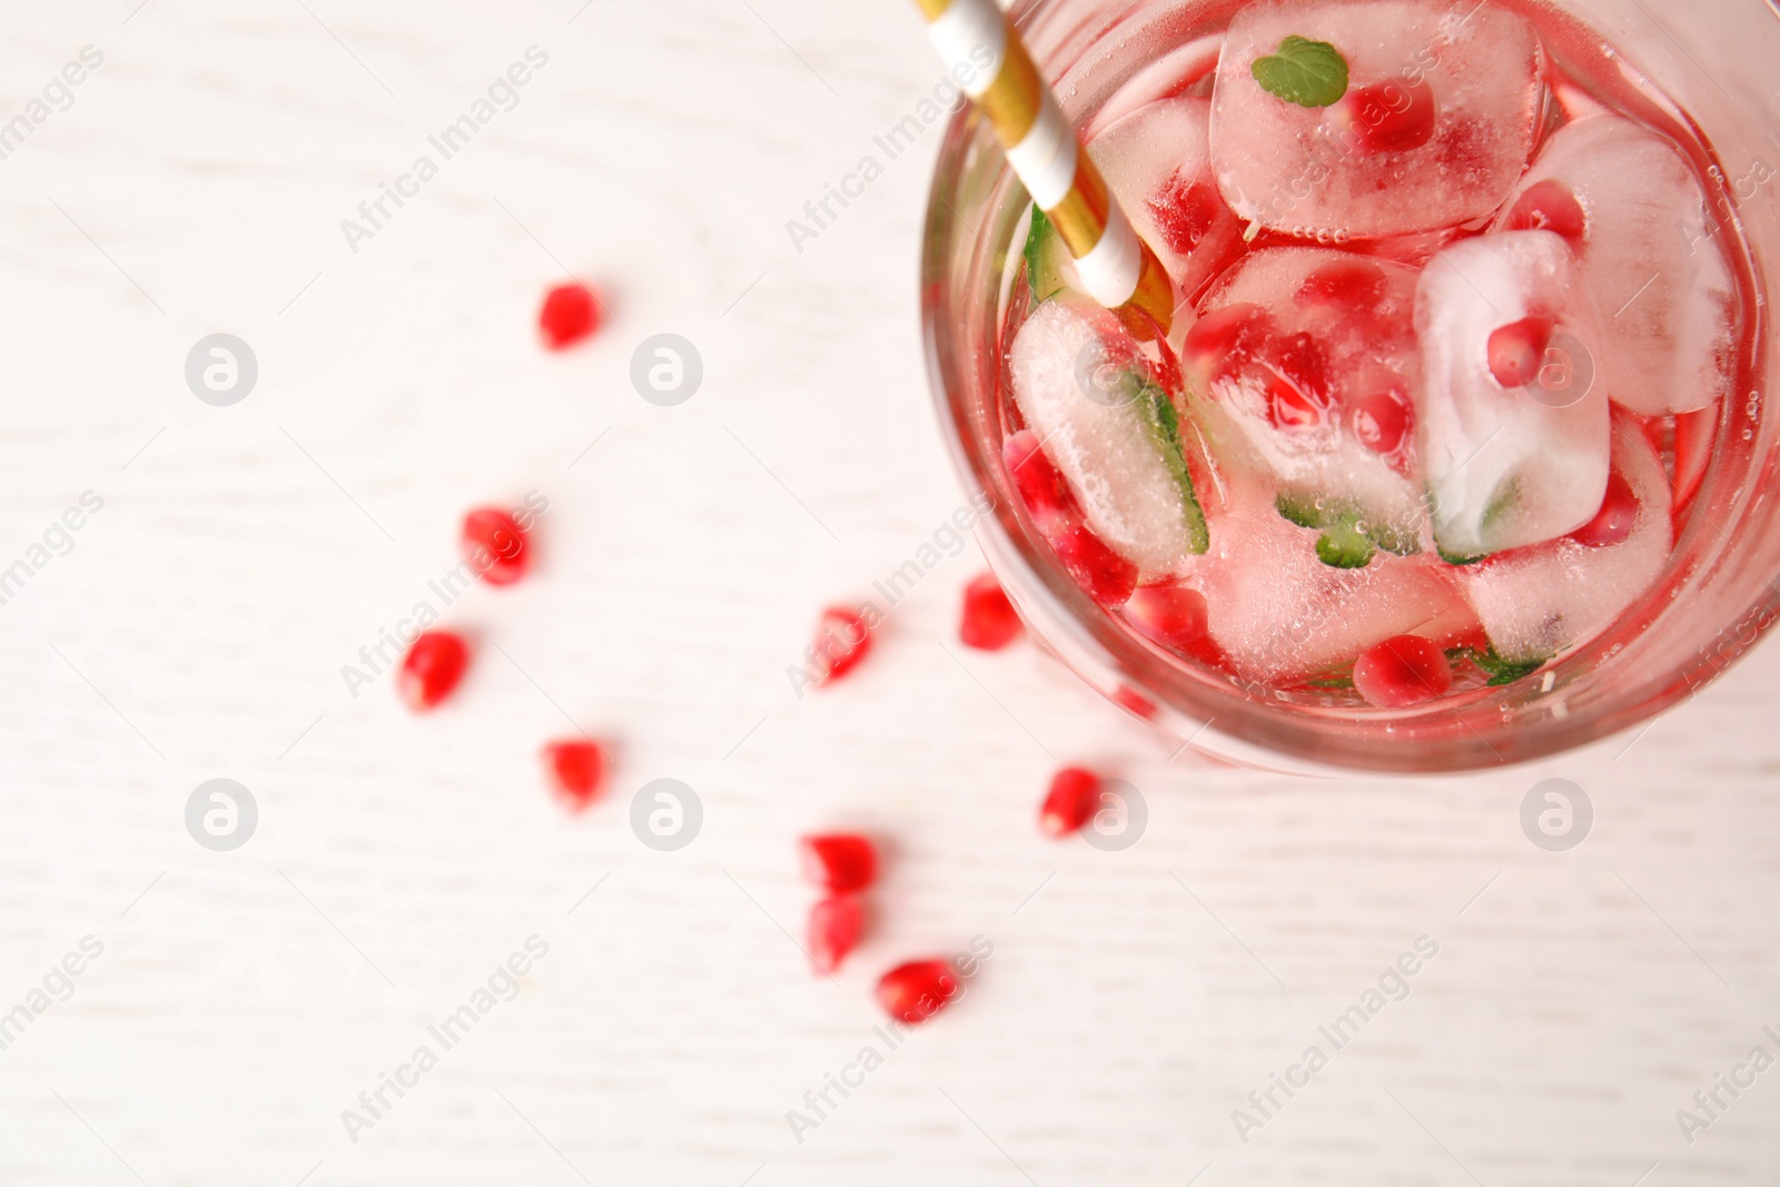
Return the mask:
{"type": "Polygon", "coordinates": [[[815,610],[959,500],[915,324],[938,132],[801,251],[785,228],[938,80],[904,4],[137,4],[0,16],[0,123],[103,55],[0,160],[0,569],[28,568],[0,605],[0,1011],[28,1018],[0,1183],[1780,1175],[1780,1071],[1718,1089],[1693,1144],[1677,1121],[1780,1055],[1773,648],[1636,740],[1303,783],[1169,763],[1031,646],[949,655],[972,548],[854,680],[792,694],[815,610]],[[529,46],[513,109],[440,160],[529,46]],[[342,221],[424,153],[352,251],[342,221]],[[612,319],[546,356],[564,271],[612,319]],[[183,377],[217,331],[260,372],[228,408],[183,377]],[[678,408],[628,379],[655,333],[703,358],[678,408]],[[342,666],[433,596],[457,516],[530,489],[536,578],[447,610],[479,637],[456,701],[352,698],[342,666]],[[34,568],[84,491],[103,509],[34,568]],[[536,771],[566,717],[618,751],[582,819],[536,771]],[[1136,847],[1038,836],[1059,760],[1143,790],[1136,847]],[[212,778],[258,804],[231,852],[183,824],[212,778]],[[628,828],[655,778],[703,803],[678,852],[628,828]],[[1522,835],[1545,778],[1593,799],[1579,849],[1522,835]],[[792,838],[822,826],[890,840],[837,982],[789,940],[792,838]],[[530,936],[445,1050],[429,1027],[530,936]],[[972,936],[965,1000],[888,1052],[878,972],[972,936]],[[1333,1050],[1319,1027],[1420,936],[1438,957],[1333,1050]],[[883,1066],[797,1141],[787,1110],[867,1045],[883,1066]],[[1328,1066],[1241,1141],[1312,1045],[1328,1066]]]}

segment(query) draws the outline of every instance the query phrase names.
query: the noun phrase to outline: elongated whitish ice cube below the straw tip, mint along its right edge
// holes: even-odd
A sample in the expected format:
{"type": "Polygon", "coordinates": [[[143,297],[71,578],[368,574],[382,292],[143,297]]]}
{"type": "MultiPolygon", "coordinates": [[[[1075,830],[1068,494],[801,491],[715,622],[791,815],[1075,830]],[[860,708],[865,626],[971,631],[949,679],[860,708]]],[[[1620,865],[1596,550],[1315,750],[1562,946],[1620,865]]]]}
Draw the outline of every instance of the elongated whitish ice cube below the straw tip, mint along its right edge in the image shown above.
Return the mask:
{"type": "Polygon", "coordinates": [[[1118,319],[1070,294],[1013,342],[1013,397],[1068,480],[1088,527],[1145,578],[1184,573],[1205,520],[1168,393],[1118,319]]]}

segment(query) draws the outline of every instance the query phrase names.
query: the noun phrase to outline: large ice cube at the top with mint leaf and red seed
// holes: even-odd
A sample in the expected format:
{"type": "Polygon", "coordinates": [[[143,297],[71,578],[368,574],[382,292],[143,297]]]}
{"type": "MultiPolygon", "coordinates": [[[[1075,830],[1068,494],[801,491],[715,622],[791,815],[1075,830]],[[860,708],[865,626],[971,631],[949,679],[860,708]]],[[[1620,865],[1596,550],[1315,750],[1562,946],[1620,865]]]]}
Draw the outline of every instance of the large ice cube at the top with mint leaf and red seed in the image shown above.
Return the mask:
{"type": "Polygon", "coordinates": [[[1262,0],[1230,23],[1212,94],[1212,162],[1237,217],[1346,242],[1485,219],[1527,167],[1543,50],[1479,0],[1262,0]],[[1328,43],[1347,89],[1301,107],[1255,62],[1287,37],[1328,43]]]}

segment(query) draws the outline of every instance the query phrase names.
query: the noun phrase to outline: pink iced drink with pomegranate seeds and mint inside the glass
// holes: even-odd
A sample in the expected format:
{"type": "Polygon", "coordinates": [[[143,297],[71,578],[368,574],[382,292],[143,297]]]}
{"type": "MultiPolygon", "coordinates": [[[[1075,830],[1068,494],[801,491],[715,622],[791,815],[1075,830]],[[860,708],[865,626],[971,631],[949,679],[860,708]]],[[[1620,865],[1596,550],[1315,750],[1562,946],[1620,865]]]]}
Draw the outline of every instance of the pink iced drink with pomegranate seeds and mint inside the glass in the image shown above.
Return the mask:
{"type": "Polygon", "coordinates": [[[1504,689],[1525,707],[1664,596],[1759,383],[1711,146],[1545,5],[1196,16],[1088,126],[1173,326],[1093,306],[1024,217],[1006,489],[1200,687],[1372,737],[1504,689]]]}

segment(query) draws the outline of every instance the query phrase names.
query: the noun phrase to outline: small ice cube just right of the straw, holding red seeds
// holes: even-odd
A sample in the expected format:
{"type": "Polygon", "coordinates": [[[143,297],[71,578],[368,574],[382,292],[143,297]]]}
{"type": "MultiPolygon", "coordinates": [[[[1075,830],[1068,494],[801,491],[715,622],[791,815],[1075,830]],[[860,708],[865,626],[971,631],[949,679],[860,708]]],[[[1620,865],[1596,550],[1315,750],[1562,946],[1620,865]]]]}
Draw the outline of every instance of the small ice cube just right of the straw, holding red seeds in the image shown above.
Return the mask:
{"type": "Polygon", "coordinates": [[[1189,297],[1242,247],[1242,224],[1212,174],[1210,112],[1210,100],[1159,100],[1088,144],[1137,235],[1189,297]]]}

